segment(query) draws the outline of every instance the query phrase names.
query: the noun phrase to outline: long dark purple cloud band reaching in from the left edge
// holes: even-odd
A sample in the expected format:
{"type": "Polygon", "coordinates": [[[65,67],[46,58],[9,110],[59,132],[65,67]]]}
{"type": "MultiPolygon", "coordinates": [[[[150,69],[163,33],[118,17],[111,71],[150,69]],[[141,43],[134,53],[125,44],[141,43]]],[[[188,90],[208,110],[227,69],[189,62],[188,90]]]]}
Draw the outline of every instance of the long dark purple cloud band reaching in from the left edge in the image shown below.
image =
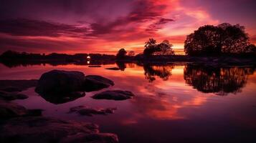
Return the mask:
{"type": "Polygon", "coordinates": [[[58,24],[31,19],[0,20],[0,32],[14,36],[79,36],[87,32],[86,27],[58,24]]]}

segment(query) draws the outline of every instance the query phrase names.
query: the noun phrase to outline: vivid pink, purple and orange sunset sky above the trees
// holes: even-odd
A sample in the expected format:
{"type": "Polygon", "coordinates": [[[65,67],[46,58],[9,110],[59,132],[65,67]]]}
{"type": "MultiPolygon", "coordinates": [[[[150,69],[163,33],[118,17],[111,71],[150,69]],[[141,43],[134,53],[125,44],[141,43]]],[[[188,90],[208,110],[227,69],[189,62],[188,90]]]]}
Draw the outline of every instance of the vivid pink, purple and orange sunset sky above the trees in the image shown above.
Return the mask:
{"type": "Polygon", "coordinates": [[[205,24],[241,24],[256,44],[255,0],[0,0],[0,53],[115,54],[167,39],[183,51],[205,24]]]}

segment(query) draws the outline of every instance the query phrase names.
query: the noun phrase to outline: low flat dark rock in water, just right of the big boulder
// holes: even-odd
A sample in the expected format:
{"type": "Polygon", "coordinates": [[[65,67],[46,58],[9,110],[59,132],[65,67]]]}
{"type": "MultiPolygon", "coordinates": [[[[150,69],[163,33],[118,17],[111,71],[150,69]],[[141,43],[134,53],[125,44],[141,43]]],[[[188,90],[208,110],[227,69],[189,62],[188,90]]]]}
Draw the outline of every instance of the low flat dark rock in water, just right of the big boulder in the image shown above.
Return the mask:
{"type": "Polygon", "coordinates": [[[121,91],[121,90],[108,90],[95,94],[93,99],[110,99],[110,100],[125,100],[131,99],[135,95],[132,92],[121,91]]]}

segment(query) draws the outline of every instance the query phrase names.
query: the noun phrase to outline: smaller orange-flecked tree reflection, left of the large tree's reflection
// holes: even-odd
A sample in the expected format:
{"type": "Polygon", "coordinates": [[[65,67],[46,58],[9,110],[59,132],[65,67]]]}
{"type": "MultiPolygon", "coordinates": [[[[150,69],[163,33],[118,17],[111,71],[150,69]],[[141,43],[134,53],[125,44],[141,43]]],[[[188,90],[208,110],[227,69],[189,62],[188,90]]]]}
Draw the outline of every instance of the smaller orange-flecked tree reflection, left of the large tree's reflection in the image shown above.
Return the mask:
{"type": "Polygon", "coordinates": [[[171,69],[174,69],[174,66],[151,66],[148,64],[144,64],[143,69],[145,71],[145,77],[146,79],[148,79],[149,82],[153,82],[154,80],[156,80],[156,76],[166,81],[171,76],[171,69]]]}

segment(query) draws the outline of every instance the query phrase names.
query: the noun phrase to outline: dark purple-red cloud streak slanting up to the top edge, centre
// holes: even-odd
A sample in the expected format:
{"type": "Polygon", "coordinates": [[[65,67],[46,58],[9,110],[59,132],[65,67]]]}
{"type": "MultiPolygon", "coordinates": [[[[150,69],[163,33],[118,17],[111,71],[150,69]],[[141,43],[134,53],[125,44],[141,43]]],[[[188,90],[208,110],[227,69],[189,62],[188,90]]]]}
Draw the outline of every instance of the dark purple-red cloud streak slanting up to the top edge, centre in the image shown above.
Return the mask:
{"type": "Polygon", "coordinates": [[[135,1],[133,3],[133,9],[127,16],[118,17],[115,21],[110,21],[107,24],[102,21],[98,21],[97,23],[91,24],[92,33],[87,34],[87,36],[98,36],[100,34],[110,34],[120,31],[125,31],[125,29],[115,29],[120,26],[125,26],[128,24],[134,24],[130,27],[130,29],[137,30],[134,26],[138,26],[137,24],[142,24],[146,21],[153,21],[159,19],[154,25],[166,24],[169,21],[173,21],[172,19],[163,19],[160,16],[163,14],[163,10],[166,9],[166,5],[164,4],[154,4],[152,1],[135,1]]]}

